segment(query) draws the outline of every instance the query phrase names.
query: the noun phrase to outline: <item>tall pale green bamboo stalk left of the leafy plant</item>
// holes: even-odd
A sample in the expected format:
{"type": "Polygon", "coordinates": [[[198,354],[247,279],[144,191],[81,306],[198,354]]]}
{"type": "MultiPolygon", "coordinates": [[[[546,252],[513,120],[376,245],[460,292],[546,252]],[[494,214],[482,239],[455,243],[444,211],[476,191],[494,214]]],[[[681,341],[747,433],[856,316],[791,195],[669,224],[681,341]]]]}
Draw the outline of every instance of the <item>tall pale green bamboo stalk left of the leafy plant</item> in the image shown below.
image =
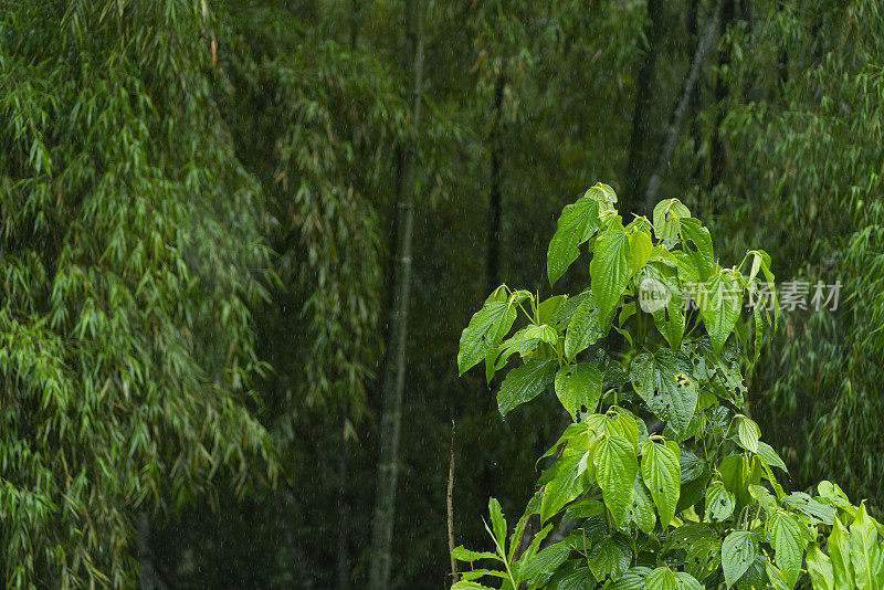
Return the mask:
{"type": "MultiPolygon", "coordinates": [[[[406,45],[412,83],[412,120],[415,135],[420,129],[423,77],[423,1],[407,3],[406,45]]],[[[387,347],[388,361],[383,375],[383,407],[380,423],[378,484],[375,496],[375,517],[371,531],[371,563],[369,589],[390,588],[392,536],[396,520],[396,487],[399,476],[399,431],[402,420],[402,397],[406,388],[408,344],[408,308],[411,291],[411,241],[414,231],[414,201],[418,158],[410,146],[404,155],[402,182],[397,194],[399,241],[397,243],[396,295],[387,347]]]]}

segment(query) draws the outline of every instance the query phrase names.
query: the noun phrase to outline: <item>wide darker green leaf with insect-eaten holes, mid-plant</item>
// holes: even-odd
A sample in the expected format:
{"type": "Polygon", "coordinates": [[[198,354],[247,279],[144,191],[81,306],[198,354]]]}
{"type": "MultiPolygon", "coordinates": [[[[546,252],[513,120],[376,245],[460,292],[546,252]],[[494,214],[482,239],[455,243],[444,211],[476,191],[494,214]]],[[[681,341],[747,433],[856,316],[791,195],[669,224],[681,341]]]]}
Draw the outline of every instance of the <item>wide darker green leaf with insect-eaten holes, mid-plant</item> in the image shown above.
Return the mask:
{"type": "Polygon", "coordinates": [[[655,355],[641,352],[632,359],[630,379],[644,402],[676,433],[684,433],[697,405],[697,387],[690,361],[667,348],[655,355]]]}

